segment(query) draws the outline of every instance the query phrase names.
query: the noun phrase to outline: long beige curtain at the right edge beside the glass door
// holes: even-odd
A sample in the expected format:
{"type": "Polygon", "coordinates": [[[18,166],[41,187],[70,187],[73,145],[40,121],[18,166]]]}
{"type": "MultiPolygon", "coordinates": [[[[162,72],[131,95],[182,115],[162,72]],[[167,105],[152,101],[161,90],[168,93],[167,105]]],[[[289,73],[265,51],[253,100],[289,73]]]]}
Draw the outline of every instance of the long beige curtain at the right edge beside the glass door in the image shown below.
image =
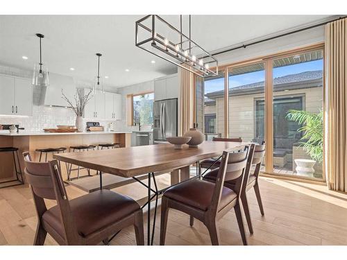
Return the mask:
{"type": "Polygon", "coordinates": [[[325,174],[329,189],[347,192],[347,19],[325,26],[325,174]]]}

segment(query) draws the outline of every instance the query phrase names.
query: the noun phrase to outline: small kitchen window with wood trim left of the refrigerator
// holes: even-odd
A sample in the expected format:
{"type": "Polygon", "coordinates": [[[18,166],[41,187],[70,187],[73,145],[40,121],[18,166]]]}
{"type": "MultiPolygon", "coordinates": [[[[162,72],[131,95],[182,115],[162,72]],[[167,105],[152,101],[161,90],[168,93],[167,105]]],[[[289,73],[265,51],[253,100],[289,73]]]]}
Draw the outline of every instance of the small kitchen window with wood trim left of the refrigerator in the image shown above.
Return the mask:
{"type": "Polygon", "coordinates": [[[132,100],[132,125],[152,125],[153,124],[153,102],[154,93],[129,95],[128,98],[132,100]]]}

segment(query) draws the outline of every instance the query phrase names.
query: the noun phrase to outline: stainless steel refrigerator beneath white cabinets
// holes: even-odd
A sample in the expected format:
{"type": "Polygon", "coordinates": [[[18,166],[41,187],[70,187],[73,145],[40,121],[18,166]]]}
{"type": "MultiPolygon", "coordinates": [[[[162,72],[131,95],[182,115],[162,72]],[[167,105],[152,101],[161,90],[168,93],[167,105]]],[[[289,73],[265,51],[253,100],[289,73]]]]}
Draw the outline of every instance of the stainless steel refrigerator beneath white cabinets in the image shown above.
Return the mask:
{"type": "Polygon", "coordinates": [[[153,141],[177,136],[177,98],[155,101],[153,107],[153,141]]]}

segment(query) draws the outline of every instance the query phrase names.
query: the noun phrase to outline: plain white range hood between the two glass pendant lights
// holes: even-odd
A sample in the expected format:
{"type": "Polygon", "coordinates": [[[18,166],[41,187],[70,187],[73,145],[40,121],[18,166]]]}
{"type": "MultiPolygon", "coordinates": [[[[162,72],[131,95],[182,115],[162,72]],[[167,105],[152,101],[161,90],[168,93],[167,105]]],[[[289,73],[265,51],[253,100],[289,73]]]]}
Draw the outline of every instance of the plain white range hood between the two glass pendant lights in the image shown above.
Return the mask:
{"type": "Polygon", "coordinates": [[[76,94],[74,79],[70,76],[49,73],[49,86],[46,89],[44,105],[69,106],[67,101],[62,98],[62,92],[64,92],[69,101],[74,101],[74,95],[76,94]]]}

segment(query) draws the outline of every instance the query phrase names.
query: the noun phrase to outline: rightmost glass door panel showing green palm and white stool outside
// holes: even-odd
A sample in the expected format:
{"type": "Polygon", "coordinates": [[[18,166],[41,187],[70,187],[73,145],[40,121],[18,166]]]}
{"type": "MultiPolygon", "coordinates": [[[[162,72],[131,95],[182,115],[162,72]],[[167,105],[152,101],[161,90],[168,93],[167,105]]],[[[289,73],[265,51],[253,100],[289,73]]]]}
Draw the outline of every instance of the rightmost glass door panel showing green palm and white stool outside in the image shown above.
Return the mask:
{"type": "Polygon", "coordinates": [[[272,83],[273,173],[322,178],[323,50],[274,59],[272,83]]]}

